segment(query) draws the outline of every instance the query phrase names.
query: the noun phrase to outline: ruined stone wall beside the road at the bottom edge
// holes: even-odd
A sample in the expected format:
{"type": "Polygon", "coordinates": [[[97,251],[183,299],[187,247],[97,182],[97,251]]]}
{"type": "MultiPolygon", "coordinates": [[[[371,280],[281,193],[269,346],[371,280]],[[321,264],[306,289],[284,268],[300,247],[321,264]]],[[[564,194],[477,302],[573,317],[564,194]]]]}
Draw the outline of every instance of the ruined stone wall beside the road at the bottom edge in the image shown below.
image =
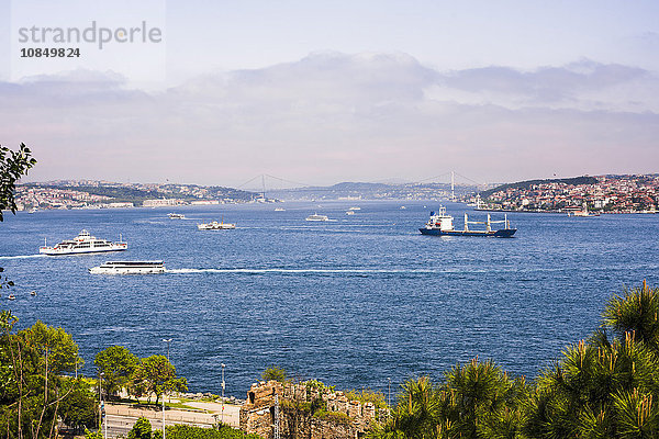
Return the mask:
{"type": "Polygon", "coordinates": [[[268,381],[255,383],[247,392],[247,399],[241,407],[241,429],[257,434],[266,439],[273,438],[275,395],[279,396],[280,435],[282,439],[357,439],[376,421],[376,406],[372,403],[349,401],[343,392],[320,392],[306,389],[305,383],[280,383],[268,381]],[[317,418],[306,413],[301,416],[289,403],[306,403],[322,398],[330,413],[344,414],[345,419],[317,418]],[[346,421],[347,420],[347,421],[346,421]]]}

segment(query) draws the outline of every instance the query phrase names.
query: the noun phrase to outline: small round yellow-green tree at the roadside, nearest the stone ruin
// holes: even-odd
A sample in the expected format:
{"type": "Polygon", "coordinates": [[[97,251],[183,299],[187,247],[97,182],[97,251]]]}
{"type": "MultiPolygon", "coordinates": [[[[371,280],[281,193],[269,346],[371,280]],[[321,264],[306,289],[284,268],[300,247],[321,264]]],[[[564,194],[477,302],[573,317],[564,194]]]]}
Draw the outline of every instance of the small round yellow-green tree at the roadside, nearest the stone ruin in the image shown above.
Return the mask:
{"type": "Polygon", "coordinates": [[[156,395],[156,404],[165,392],[185,392],[188,381],[176,376],[176,368],[165,356],[150,356],[139,360],[133,373],[133,385],[137,395],[146,394],[150,401],[156,395]]]}

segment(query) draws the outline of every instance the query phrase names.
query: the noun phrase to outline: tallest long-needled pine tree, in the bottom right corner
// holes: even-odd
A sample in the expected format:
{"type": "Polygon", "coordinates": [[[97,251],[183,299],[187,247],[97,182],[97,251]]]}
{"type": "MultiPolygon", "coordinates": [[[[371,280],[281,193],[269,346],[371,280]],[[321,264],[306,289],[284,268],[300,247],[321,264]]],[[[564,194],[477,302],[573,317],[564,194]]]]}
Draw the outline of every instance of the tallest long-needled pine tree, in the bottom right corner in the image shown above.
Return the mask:
{"type": "Polygon", "coordinates": [[[604,327],[536,380],[525,404],[527,437],[659,437],[658,299],[659,289],[644,282],[608,301],[604,327]]]}

